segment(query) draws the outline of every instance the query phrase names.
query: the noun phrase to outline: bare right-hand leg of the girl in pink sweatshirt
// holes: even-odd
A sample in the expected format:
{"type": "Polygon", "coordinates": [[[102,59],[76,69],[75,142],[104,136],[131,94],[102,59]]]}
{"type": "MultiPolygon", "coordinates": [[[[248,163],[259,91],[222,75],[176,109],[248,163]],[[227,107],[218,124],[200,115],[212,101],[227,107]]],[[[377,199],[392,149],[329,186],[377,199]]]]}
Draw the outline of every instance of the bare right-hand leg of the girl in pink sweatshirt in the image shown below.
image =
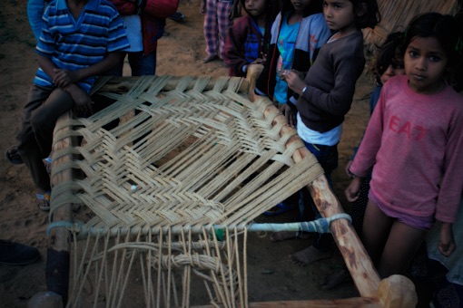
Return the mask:
{"type": "Polygon", "coordinates": [[[426,231],[395,220],[378,266],[379,276],[400,274],[426,236],[426,231]]]}

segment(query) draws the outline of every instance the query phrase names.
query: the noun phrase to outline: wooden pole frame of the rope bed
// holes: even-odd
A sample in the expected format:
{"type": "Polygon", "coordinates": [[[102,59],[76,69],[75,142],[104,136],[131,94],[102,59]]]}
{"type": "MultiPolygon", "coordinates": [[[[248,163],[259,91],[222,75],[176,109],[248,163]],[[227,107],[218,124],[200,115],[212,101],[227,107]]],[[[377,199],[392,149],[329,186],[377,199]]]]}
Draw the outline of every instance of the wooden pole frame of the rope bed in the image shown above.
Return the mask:
{"type": "MultiPolygon", "coordinates": [[[[248,92],[248,88],[253,89],[253,81],[257,71],[251,71],[248,80],[242,83],[242,92],[248,92]],[[252,74],[254,74],[252,76],[252,74]]],[[[133,77],[113,78],[112,82],[103,85],[101,91],[127,91],[136,81],[133,77]]],[[[266,112],[272,112],[272,108],[268,108],[266,112]]],[[[64,114],[61,120],[72,116],[70,113],[64,114]]],[[[285,121],[283,116],[275,118],[275,121],[285,121]]],[[[59,125],[57,125],[59,127],[59,125]]],[[[57,142],[54,143],[54,150],[64,149],[73,143],[71,138],[61,139],[59,136],[65,133],[63,128],[55,130],[57,142]]],[[[284,130],[288,130],[283,126],[281,134],[284,130]]],[[[291,143],[292,140],[289,141],[291,143]]],[[[308,149],[298,149],[293,155],[294,161],[300,161],[307,155],[311,155],[308,149]]],[[[71,161],[68,156],[54,160],[54,166],[63,164],[66,161],[71,161]]],[[[56,186],[72,177],[71,171],[66,169],[61,172],[54,173],[52,183],[56,186]]],[[[308,186],[310,194],[313,197],[320,214],[323,217],[332,217],[343,213],[340,201],[335,197],[327,178],[324,175],[316,178],[308,186]]],[[[72,222],[73,211],[72,204],[67,204],[64,207],[57,209],[51,221],[57,222],[72,222]]],[[[350,222],[346,219],[338,219],[330,224],[330,231],[333,235],[336,245],[340,249],[340,253],[344,258],[353,281],[360,293],[358,298],[348,299],[333,299],[321,301],[284,301],[284,302],[267,302],[267,303],[248,303],[249,307],[413,307],[418,302],[414,284],[405,276],[393,275],[387,279],[380,280],[379,275],[369,259],[369,255],[360,242],[359,236],[355,233],[350,222]]],[[[67,302],[67,293],[69,288],[70,277],[70,252],[72,238],[70,231],[66,227],[54,227],[49,234],[49,246],[46,260],[46,286],[49,292],[59,294],[63,298],[63,302],[67,302]]],[[[39,302],[37,302],[39,303],[39,302]]],[[[47,299],[40,301],[43,307],[48,307],[51,302],[47,299]]]]}

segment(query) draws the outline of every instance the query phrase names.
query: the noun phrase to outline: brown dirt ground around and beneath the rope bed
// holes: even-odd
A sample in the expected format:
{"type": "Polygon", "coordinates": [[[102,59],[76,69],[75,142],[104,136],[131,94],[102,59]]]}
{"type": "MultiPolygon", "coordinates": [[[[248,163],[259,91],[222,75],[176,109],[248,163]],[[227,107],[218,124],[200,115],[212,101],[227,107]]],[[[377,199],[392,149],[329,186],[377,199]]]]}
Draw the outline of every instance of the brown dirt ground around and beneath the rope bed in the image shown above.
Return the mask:
{"type": "MultiPolygon", "coordinates": [[[[179,10],[186,22],[167,20],[167,34],[158,45],[159,75],[227,75],[221,61],[202,63],[205,56],[202,34],[203,16],[199,0],[182,0],[179,10]]],[[[23,106],[34,78],[37,62],[34,35],[26,16],[26,0],[0,1],[0,152],[15,145],[20,130],[23,106]]],[[[368,98],[374,84],[368,74],[358,82],[355,100],[345,122],[340,142],[340,167],[333,175],[335,192],[344,202],[343,189],[348,178],[343,168],[352,147],[360,140],[368,120],[368,98]]],[[[2,154],[3,155],[3,154],[2,154]]],[[[0,305],[25,307],[34,294],[45,291],[47,213],[34,205],[34,185],[24,166],[0,159],[0,238],[33,245],[42,258],[33,265],[0,265],[0,305]]],[[[261,221],[291,221],[296,213],[260,217],[261,221]]],[[[248,242],[248,279],[251,302],[278,300],[335,299],[358,296],[354,284],[341,284],[330,291],[320,290],[320,277],[337,271],[343,261],[337,249],[330,259],[300,267],[288,258],[308,245],[307,240],[272,243],[270,237],[251,235],[248,242]]]]}

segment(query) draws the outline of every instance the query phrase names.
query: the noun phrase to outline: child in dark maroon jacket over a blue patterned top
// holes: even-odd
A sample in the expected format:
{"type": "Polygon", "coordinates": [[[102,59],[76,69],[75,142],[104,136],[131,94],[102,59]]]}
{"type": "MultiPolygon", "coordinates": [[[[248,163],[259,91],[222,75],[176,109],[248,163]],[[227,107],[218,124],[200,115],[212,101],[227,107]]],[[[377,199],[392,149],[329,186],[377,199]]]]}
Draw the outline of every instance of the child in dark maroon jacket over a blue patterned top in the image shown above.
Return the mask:
{"type": "Polygon", "coordinates": [[[230,28],[225,41],[223,62],[230,76],[245,77],[248,65],[265,62],[275,20],[275,0],[241,0],[247,14],[230,28]]]}

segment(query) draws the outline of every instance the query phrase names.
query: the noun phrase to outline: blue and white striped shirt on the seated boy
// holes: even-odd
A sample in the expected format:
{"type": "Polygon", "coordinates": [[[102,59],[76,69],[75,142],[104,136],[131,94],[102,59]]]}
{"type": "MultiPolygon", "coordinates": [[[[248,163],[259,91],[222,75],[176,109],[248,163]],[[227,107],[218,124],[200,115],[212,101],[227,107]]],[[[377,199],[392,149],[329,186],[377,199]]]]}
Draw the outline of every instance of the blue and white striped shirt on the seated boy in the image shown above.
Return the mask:
{"type": "MultiPolygon", "coordinates": [[[[50,58],[56,67],[77,71],[99,63],[107,55],[129,46],[117,9],[106,0],[90,0],[77,20],[65,0],[54,0],[45,9],[44,29],[35,52],[50,58]]],[[[77,82],[90,91],[96,77],[77,82]]],[[[41,68],[34,83],[54,86],[41,68]]]]}

